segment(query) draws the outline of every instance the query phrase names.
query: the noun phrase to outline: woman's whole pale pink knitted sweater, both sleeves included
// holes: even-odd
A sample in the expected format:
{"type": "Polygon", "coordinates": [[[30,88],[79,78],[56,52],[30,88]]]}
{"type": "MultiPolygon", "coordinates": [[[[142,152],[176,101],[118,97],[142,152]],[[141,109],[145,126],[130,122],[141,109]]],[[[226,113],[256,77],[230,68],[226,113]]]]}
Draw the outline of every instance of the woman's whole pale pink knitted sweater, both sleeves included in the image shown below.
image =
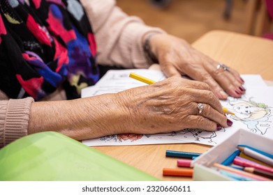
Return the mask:
{"type": "MultiPolygon", "coordinates": [[[[81,0],[92,24],[100,64],[124,68],[148,68],[142,50],[142,36],[161,29],[146,26],[138,17],[123,13],[114,0],[81,0]]],[[[61,88],[45,100],[66,100],[61,88]]],[[[8,100],[0,91],[0,148],[28,134],[33,98],[8,100]]]]}

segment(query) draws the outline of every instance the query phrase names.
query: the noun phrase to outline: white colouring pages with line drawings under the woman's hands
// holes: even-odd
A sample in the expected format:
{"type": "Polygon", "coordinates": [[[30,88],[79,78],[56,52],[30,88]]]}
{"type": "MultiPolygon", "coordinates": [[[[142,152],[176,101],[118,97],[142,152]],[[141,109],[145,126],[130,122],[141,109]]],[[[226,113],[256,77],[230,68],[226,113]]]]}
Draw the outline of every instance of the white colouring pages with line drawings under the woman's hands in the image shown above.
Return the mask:
{"type": "MultiPolygon", "coordinates": [[[[130,72],[135,72],[154,81],[165,79],[160,70],[110,70],[95,86],[84,88],[82,98],[103,93],[117,93],[128,88],[147,85],[130,78],[130,72]]],[[[242,75],[242,78],[245,81],[246,94],[242,98],[229,97],[228,100],[221,101],[223,107],[235,113],[234,116],[228,115],[228,118],[233,121],[232,127],[222,128],[222,130],[215,132],[186,129],[165,134],[115,134],[98,139],[84,140],[82,143],[87,146],[127,146],[160,143],[202,143],[215,146],[226,139],[229,134],[241,128],[273,139],[273,87],[267,86],[260,75],[242,75]]]]}

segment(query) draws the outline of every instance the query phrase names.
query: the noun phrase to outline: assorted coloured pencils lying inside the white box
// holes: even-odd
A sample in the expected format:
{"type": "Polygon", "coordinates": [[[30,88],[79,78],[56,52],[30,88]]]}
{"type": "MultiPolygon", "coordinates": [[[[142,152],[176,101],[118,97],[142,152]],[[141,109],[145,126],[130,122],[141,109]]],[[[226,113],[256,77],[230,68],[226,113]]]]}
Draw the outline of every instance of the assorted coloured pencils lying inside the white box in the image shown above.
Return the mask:
{"type": "Polygon", "coordinates": [[[238,145],[221,164],[214,163],[212,169],[233,180],[273,180],[273,155],[251,146],[238,145]]]}

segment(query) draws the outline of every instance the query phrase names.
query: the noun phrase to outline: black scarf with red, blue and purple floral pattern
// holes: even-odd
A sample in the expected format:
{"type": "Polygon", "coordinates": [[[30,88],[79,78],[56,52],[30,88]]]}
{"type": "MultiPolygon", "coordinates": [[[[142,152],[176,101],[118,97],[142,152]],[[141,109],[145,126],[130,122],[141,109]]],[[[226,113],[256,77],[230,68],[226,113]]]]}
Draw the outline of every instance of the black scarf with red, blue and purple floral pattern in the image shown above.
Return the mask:
{"type": "Polygon", "coordinates": [[[40,100],[62,84],[68,99],[99,78],[96,42],[78,0],[0,0],[0,90],[40,100]]]}

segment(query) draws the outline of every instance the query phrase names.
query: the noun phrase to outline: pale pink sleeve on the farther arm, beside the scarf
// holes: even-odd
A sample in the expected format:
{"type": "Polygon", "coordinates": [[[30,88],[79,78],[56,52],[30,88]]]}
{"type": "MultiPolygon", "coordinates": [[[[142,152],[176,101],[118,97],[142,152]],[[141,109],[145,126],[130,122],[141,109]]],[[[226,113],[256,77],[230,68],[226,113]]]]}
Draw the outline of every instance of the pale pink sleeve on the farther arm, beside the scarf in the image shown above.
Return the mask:
{"type": "Polygon", "coordinates": [[[97,43],[97,61],[124,68],[148,68],[142,37],[162,29],[146,26],[139,17],[129,17],[114,0],[80,0],[91,22],[97,43]]]}

